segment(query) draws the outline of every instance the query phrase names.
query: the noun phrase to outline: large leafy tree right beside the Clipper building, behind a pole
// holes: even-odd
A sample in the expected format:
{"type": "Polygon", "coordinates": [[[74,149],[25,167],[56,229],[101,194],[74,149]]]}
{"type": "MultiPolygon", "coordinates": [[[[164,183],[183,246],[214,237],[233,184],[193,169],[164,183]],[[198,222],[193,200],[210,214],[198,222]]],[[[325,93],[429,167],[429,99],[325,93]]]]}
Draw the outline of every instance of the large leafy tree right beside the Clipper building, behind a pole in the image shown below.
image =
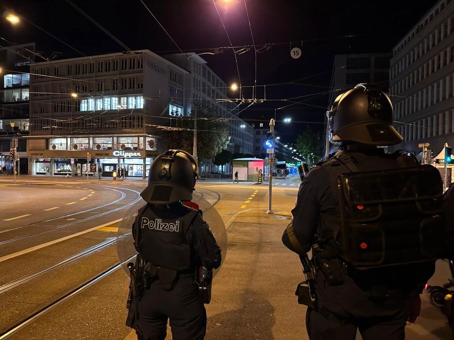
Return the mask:
{"type": "Polygon", "coordinates": [[[194,117],[197,117],[197,156],[199,161],[213,159],[229,142],[225,119],[217,117],[214,109],[195,103],[187,116],[176,118],[176,127],[164,131],[163,137],[171,149],[183,149],[192,154],[194,117]]]}

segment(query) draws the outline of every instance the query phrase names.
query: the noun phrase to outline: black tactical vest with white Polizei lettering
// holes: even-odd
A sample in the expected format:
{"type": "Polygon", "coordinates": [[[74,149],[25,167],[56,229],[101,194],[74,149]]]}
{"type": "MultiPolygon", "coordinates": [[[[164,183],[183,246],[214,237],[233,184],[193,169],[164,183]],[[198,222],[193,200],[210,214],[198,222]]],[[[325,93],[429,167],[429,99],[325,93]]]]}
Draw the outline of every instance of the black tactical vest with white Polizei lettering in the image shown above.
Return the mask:
{"type": "Polygon", "coordinates": [[[177,219],[157,216],[150,205],[139,210],[134,235],[142,259],[155,266],[184,272],[195,268],[191,247],[186,241],[186,231],[199,214],[185,208],[188,213],[177,219]]]}

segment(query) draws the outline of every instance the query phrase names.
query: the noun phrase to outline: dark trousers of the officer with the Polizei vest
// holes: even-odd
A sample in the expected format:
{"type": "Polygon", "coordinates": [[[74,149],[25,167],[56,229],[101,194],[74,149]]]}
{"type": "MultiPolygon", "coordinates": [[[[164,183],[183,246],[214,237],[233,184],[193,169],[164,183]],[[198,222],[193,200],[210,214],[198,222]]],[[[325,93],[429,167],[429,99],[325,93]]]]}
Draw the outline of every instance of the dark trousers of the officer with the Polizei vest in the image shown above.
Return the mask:
{"type": "Polygon", "coordinates": [[[206,311],[198,285],[191,278],[181,278],[174,289],[165,291],[159,280],[137,301],[135,320],[139,340],[164,340],[167,320],[174,340],[202,340],[206,332],[206,311]]]}

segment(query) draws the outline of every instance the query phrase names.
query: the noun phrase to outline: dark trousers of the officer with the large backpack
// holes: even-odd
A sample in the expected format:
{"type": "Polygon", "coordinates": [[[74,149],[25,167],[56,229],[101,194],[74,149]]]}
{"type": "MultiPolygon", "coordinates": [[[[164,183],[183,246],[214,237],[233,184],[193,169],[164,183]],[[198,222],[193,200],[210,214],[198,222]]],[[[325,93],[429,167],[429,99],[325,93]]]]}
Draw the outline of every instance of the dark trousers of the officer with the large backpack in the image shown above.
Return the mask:
{"type": "Polygon", "coordinates": [[[316,292],[321,311],[308,308],[306,328],[310,340],[403,340],[411,294],[388,290],[388,297],[373,299],[370,293],[346,276],[340,286],[329,286],[317,274],[316,292]]]}

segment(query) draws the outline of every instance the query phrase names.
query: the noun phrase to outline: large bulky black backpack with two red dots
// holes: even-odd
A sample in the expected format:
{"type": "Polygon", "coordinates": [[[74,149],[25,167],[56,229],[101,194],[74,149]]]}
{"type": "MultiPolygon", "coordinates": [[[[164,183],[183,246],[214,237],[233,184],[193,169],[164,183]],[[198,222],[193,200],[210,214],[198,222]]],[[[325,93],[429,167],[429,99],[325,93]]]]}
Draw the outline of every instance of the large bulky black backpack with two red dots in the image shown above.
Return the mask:
{"type": "Polygon", "coordinates": [[[341,151],[321,164],[333,207],[320,214],[319,236],[357,269],[434,261],[452,247],[438,170],[408,156],[395,160],[399,168],[361,171],[341,151]]]}

